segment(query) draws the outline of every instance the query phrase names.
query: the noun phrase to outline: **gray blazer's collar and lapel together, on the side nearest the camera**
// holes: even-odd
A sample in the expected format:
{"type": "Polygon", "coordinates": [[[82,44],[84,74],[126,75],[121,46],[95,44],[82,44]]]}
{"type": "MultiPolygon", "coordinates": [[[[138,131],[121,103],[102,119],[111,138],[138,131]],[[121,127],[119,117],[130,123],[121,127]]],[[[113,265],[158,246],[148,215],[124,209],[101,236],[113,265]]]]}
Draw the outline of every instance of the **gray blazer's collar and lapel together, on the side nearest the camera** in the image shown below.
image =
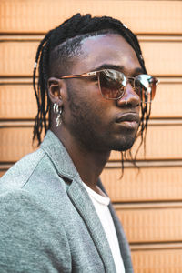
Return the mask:
{"type": "Polygon", "coordinates": [[[96,245],[98,254],[103,261],[106,272],[116,272],[115,262],[106,239],[105,231],[66,148],[51,131],[46,133],[41,148],[50,157],[59,176],[64,180],[70,180],[71,183],[67,186],[68,197],[83,218],[88,232],[96,245]]]}

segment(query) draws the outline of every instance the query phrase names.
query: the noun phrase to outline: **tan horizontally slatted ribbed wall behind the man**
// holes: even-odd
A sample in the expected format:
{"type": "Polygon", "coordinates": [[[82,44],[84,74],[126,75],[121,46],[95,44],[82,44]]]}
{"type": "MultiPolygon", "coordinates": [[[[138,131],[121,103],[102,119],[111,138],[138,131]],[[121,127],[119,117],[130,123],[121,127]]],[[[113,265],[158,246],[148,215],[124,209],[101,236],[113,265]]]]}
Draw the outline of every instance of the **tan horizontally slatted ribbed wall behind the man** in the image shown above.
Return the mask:
{"type": "Polygon", "coordinates": [[[121,0],[0,1],[0,176],[33,150],[31,76],[46,31],[76,12],[111,15],[140,40],[160,85],[140,171],[113,152],[102,180],[122,220],[135,272],[182,272],[182,2],[121,0]]]}

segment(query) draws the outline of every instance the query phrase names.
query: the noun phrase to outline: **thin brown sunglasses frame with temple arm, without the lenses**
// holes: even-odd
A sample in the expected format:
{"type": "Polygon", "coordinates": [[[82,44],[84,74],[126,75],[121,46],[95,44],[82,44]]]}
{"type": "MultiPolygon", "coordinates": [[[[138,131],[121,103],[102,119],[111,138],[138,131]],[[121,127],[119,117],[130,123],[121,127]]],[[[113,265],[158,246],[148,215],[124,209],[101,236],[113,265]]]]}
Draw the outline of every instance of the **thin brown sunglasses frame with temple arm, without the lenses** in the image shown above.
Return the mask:
{"type": "MultiPolygon", "coordinates": [[[[102,88],[101,88],[101,86],[100,86],[100,77],[99,77],[100,73],[103,72],[103,71],[106,71],[106,70],[115,70],[115,69],[102,69],[102,70],[91,71],[91,72],[87,72],[87,73],[83,73],[83,74],[75,74],[75,75],[62,76],[62,77],[60,77],[60,79],[66,79],[66,78],[79,78],[79,77],[86,77],[86,76],[97,76],[98,86],[99,86],[101,95],[102,95],[103,97],[105,97],[106,99],[109,99],[109,100],[118,100],[118,99],[120,99],[122,96],[125,95],[125,93],[126,93],[126,86],[124,86],[123,93],[122,93],[120,96],[118,96],[118,97],[116,97],[116,98],[109,98],[109,97],[106,97],[106,96],[102,93],[102,88]]],[[[117,70],[116,70],[116,71],[117,71],[117,70]]],[[[119,71],[117,71],[117,72],[119,72],[119,71]]],[[[121,73],[121,74],[123,74],[123,75],[125,76],[124,73],[122,73],[122,72],[119,72],[119,73],[121,73]]],[[[139,74],[139,75],[137,75],[137,76],[141,76],[141,75],[147,75],[147,74],[139,74]]],[[[147,76],[149,76],[149,75],[147,75],[147,76]]],[[[135,77],[134,77],[134,76],[125,76],[125,77],[126,77],[126,84],[127,84],[127,81],[128,81],[129,79],[132,79],[132,80],[134,81],[134,86],[133,86],[133,88],[135,89],[135,80],[136,80],[136,76],[135,76],[135,77]]],[[[159,82],[158,79],[157,79],[156,77],[154,77],[154,76],[150,76],[150,77],[151,77],[152,79],[155,80],[155,84],[157,85],[158,82],[159,82]]],[[[156,93],[156,90],[155,90],[155,93],[156,93]]],[[[136,94],[137,94],[137,93],[136,93],[136,94]]],[[[141,103],[147,104],[147,103],[151,103],[151,102],[152,102],[152,100],[147,101],[147,102],[145,102],[145,101],[143,102],[141,97],[140,97],[140,99],[141,99],[141,103]]]]}

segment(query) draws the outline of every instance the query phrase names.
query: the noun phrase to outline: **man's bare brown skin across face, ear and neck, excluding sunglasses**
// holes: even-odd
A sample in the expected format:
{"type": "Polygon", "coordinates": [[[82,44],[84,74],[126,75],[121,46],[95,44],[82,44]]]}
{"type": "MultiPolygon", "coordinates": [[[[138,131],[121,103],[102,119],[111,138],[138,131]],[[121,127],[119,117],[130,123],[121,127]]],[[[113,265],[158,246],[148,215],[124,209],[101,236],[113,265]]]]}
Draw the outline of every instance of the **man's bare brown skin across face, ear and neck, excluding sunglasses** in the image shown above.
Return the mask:
{"type": "MultiPolygon", "coordinates": [[[[88,37],[82,41],[81,51],[81,56],[74,58],[69,75],[105,67],[113,67],[126,76],[142,73],[135,51],[121,35],[88,37]]],[[[140,99],[128,83],[123,97],[107,100],[91,77],[51,77],[48,86],[52,103],[63,107],[61,126],[56,127],[54,114],[51,130],[66,147],[82,180],[98,192],[97,179],[111,150],[126,150],[136,139],[140,99]],[[128,115],[134,120],[128,121],[128,115]]]]}

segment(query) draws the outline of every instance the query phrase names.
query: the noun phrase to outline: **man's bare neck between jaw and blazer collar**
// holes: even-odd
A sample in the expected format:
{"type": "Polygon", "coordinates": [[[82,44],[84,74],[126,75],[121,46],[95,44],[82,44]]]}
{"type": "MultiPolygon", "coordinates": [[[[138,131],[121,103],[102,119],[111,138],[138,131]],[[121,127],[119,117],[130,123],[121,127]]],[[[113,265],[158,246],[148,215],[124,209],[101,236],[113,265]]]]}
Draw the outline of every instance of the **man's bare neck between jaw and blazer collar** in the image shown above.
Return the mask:
{"type": "Polygon", "coordinates": [[[53,132],[66,147],[83,182],[98,193],[96,183],[108,161],[110,151],[88,150],[72,136],[66,136],[60,130],[59,132],[53,130],[53,132]]]}

